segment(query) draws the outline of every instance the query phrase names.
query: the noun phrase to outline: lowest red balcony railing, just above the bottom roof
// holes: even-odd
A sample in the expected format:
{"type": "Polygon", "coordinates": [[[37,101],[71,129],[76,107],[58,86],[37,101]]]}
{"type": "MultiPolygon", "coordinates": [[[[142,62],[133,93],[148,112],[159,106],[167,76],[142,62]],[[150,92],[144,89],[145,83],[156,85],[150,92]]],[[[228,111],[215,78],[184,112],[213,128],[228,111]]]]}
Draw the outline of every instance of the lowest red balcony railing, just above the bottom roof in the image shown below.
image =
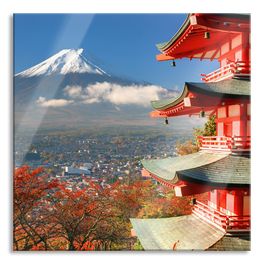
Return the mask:
{"type": "Polygon", "coordinates": [[[192,211],[206,222],[227,233],[250,232],[250,215],[227,215],[201,201],[196,200],[192,211]]]}

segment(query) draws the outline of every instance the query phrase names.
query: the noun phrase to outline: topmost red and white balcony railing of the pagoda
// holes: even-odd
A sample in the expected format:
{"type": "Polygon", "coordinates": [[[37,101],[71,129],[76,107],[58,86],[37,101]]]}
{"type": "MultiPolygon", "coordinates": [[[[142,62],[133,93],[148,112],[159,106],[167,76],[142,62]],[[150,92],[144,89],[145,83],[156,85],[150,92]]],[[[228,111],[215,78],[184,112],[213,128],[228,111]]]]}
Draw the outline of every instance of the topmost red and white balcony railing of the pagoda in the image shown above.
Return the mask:
{"type": "Polygon", "coordinates": [[[231,77],[249,77],[251,75],[251,62],[246,61],[230,61],[229,64],[215,70],[209,74],[200,74],[205,78],[201,78],[205,82],[223,81],[231,77]]]}

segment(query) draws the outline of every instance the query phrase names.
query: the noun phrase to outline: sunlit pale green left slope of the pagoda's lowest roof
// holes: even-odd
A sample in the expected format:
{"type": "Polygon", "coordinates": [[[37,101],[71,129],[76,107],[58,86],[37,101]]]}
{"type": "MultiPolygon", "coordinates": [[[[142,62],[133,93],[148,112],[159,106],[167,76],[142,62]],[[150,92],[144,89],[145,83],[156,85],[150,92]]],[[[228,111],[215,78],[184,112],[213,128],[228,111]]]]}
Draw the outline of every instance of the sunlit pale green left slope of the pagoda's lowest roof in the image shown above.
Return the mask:
{"type": "Polygon", "coordinates": [[[195,214],[157,219],[130,218],[130,221],[146,251],[173,250],[178,240],[177,251],[203,251],[225,234],[195,214]]]}

